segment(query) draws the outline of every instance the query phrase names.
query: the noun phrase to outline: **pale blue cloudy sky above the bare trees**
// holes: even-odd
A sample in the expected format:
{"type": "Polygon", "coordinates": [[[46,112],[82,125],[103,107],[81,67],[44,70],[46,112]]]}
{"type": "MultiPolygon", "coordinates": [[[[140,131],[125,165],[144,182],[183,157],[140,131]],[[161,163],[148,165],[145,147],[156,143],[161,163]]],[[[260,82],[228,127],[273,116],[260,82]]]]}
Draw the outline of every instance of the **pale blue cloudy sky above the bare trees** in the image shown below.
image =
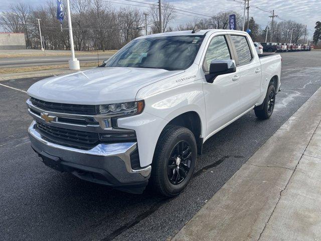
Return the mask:
{"type": "MultiPolygon", "coordinates": [[[[44,3],[44,0],[0,0],[0,12],[6,11],[9,8],[10,4],[15,4],[18,2],[29,3],[32,6],[39,6],[44,3]]],[[[54,1],[56,0],[49,0],[54,1]]],[[[136,0],[137,2],[144,3],[154,3],[157,4],[157,0],[136,0]]],[[[202,13],[204,15],[215,15],[222,11],[233,10],[241,16],[243,16],[244,5],[234,2],[233,0],[168,0],[175,7],[184,9],[186,11],[193,11],[202,13]]],[[[238,2],[243,2],[244,0],[237,0],[238,2]]],[[[134,2],[129,2],[126,0],[112,0],[112,2],[118,3],[128,3],[132,5],[142,5],[134,2]]],[[[120,4],[112,4],[115,7],[124,7],[120,4]]],[[[148,6],[148,5],[143,5],[148,6]]],[[[260,24],[261,28],[265,28],[267,23],[271,21],[268,17],[271,14],[264,12],[255,7],[259,7],[265,11],[272,11],[274,9],[275,15],[278,15],[279,18],[276,18],[276,21],[282,20],[293,20],[301,24],[307,25],[309,38],[312,38],[314,32],[314,26],[316,21],[321,21],[321,4],[319,0],[250,0],[250,17],[254,17],[257,24],[260,24]],[[281,20],[281,19],[282,20],[281,20]]],[[[147,8],[141,8],[142,10],[147,10],[147,8]]],[[[187,15],[199,16],[201,18],[207,18],[205,16],[185,13],[187,15]]],[[[186,22],[193,21],[195,17],[186,16],[183,14],[177,14],[175,20],[171,22],[172,27],[176,27],[179,24],[184,24],[186,22]]]]}

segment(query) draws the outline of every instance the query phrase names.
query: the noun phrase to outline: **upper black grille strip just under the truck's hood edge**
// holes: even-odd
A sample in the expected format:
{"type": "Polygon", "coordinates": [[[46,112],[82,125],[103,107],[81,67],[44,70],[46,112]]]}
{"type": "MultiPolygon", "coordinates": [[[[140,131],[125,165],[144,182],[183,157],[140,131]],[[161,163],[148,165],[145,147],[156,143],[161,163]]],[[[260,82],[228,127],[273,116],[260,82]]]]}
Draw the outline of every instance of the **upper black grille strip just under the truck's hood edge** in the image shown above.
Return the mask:
{"type": "Polygon", "coordinates": [[[95,105],[55,103],[36,99],[34,97],[30,97],[30,101],[36,107],[47,111],[69,114],[96,115],[95,105]]]}

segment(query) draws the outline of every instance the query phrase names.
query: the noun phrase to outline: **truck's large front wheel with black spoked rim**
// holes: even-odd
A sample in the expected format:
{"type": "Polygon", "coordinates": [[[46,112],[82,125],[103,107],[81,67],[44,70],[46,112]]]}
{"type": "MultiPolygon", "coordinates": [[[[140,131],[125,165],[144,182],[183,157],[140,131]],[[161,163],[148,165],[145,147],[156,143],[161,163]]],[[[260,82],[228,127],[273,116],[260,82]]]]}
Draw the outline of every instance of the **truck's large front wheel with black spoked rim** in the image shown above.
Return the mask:
{"type": "Polygon", "coordinates": [[[154,190],[173,197],[190,182],[197,157],[194,134],[187,128],[168,126],[158,139],[151,167],[154,190]]]}

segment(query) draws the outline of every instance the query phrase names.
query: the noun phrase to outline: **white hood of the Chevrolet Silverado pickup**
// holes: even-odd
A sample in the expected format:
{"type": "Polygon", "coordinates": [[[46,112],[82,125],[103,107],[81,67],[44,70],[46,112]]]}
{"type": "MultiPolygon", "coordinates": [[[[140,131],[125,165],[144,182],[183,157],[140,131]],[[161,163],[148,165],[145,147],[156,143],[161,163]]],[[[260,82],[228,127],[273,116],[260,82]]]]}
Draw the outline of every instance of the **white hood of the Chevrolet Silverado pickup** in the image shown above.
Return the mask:
{"type": "Polygon", "coordinates": [[[71,104],[108,104],[135,100],[137,91],[184,70],[102,67],[40,80],[28,89],[32,97],[71,104]]]}

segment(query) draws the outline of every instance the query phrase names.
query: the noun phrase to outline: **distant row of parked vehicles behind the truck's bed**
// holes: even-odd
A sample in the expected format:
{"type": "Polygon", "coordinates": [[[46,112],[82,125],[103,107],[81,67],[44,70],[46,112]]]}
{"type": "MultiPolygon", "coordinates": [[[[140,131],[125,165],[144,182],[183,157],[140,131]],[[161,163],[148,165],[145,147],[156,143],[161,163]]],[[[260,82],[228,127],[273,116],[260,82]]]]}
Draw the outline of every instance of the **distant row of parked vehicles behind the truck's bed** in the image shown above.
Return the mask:
{"type": "Polygon", "coordinates": [[[311,51],[312,45],[307,44],[287,44],[287,43],[254,43],[259,52],[294,52],[311,51]],[[262,51],[260,51],[262,50],[262,51]]]}

